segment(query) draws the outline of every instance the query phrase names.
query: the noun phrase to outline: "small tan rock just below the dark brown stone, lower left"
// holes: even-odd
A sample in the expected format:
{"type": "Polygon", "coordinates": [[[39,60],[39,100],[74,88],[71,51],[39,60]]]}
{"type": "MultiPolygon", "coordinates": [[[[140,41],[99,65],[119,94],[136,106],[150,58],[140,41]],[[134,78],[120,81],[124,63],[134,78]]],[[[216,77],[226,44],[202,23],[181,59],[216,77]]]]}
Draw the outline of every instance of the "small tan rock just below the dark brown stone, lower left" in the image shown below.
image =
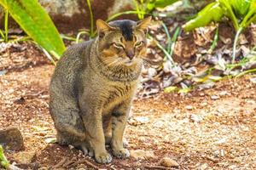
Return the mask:
{"type": "Polygon", "coordinates": [[[21,164],[29,164],[33,161],[36,156],[35,151],[22,151],[14,154],[15,161],[21,164]]]}

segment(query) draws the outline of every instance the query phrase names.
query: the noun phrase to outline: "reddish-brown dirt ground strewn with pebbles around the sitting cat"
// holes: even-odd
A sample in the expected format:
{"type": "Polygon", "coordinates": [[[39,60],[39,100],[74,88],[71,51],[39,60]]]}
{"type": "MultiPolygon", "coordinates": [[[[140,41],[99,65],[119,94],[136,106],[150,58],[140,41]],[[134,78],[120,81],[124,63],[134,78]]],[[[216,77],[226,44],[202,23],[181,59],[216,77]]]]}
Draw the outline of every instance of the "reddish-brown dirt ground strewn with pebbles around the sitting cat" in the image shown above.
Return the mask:
{"type": "Polygon", "coordinates": [[[147,154],[143,159],[113,159],[100,165],[72,146],[49,144],[55,138],[48,111],[53,71],[54,65],[39,59],[0,75],[0,128],[18,127],[25,142],[25,150],[6,152],[19,167],[256,169],[256,84],[250,81],[255,75],[225,79],[214,88],[185,96],[161,93],[136,99],[125,138],[129,150],[147,154]],[[179,166],[155,167],[163,157],[179,166]]]}

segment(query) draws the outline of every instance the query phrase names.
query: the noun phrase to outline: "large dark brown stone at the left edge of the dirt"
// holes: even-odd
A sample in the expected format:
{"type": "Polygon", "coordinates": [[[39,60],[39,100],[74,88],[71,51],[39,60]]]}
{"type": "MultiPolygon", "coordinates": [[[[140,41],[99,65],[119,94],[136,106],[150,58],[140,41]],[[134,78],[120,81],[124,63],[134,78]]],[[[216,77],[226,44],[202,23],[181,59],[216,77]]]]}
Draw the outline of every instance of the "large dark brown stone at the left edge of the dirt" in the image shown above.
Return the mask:
{"type": "Polygon", "coordinates": [[[6,150],[23,150],[24,142],[20,130],[17,127],[7,127],[0,130],[0,144],[6,150]]]}

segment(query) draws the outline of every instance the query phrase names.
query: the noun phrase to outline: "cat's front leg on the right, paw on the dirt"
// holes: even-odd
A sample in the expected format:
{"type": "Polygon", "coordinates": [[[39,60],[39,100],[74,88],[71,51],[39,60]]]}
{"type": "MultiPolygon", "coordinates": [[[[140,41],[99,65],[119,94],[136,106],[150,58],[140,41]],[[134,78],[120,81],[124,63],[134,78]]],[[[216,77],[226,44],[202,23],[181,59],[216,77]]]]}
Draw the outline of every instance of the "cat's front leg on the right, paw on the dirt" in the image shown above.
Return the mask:
{"type": "Polygon", "coordinates": [[[123,144],[125,125],[129,111],[130,103],[124,103],[113,112],[111,147],[113,150],[113,156],[122,159],[130,156],[129,150],[125,149],[123,144]]]}

